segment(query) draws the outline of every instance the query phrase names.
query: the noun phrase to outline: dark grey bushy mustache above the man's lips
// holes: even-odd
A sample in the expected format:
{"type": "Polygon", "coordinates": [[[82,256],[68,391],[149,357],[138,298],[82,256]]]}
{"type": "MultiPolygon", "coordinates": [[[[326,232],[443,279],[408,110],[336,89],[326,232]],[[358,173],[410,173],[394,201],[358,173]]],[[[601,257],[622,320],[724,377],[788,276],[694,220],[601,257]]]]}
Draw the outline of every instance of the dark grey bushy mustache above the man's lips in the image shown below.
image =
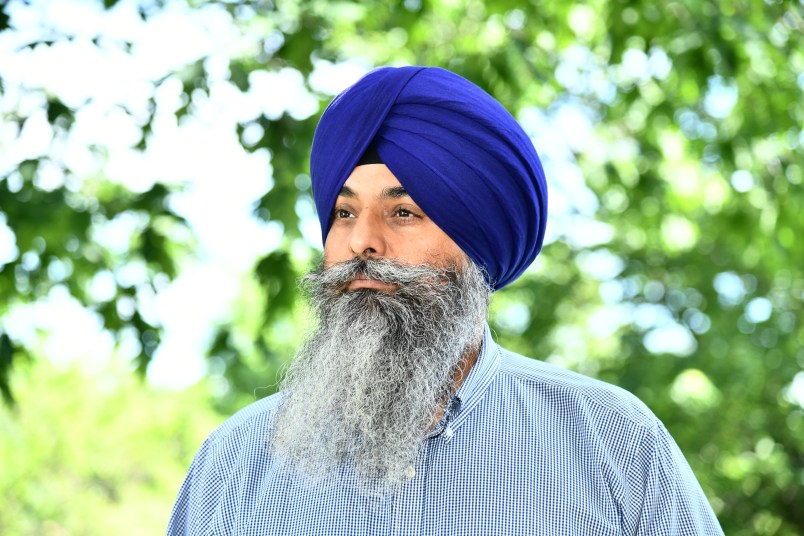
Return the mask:
{"type": "Polygon", "coordinates": [[[308,293],[312,286],[339,292],[356,278],[374,279],[399,289],[418,287],[433,281],[454,282],[461,273],[457,259],[446,267],[427,264],[406,264],[395,259],[354,257],[329,267],[323,263],[301,279],[301,286],[308,293]]]}

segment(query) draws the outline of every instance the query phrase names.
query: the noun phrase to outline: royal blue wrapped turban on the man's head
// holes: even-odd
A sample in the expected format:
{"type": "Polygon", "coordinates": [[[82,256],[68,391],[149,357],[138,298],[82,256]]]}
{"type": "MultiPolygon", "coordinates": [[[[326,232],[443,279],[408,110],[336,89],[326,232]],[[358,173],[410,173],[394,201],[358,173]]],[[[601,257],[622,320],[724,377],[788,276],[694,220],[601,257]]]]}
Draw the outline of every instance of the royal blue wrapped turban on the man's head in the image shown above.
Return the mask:
{"type": "Polygon", "coordinates": [[[547,186],[533,143],[493,97],[433,67],[376,69],[333,100],[315,132],[313,198],[327,239],[344,182],[373,145],[411,199],[494,289],[544,240],[547,186]]]}

